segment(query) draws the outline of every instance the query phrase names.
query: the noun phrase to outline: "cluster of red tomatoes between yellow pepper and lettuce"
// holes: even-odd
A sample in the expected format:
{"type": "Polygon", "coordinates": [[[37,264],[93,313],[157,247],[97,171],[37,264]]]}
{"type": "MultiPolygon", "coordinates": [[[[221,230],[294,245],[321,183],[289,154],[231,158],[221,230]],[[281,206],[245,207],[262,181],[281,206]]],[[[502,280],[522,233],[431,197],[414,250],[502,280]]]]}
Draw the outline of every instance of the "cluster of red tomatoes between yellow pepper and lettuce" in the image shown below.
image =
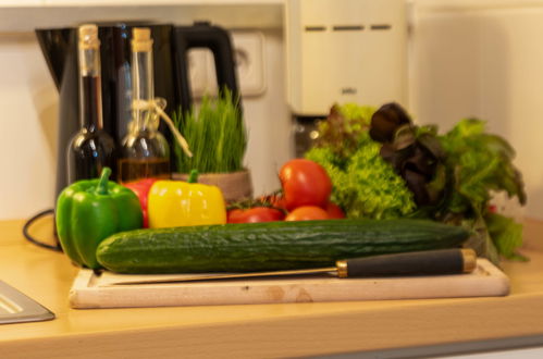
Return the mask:
{"type": "Polygon", "coordinates": [[[270,221],[310,221],[345,218],[342,209],[330,201],[332,182],[317,162],[295,159],[279,173],[282,195],[266,198],[268,206],[229,211],[229,223],[270,221]]]}

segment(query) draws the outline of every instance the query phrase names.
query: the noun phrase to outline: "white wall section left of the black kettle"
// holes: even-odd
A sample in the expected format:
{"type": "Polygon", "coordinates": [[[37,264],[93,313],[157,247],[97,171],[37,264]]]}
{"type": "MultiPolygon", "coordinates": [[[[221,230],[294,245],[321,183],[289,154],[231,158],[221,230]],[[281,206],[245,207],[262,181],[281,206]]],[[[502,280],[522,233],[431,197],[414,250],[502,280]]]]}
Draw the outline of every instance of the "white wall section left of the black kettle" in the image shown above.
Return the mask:
{"type": "Polygon", "coordinates": [[[0,219],[53,203],[58,95],[34,34],[0,34],[0,219]]]}

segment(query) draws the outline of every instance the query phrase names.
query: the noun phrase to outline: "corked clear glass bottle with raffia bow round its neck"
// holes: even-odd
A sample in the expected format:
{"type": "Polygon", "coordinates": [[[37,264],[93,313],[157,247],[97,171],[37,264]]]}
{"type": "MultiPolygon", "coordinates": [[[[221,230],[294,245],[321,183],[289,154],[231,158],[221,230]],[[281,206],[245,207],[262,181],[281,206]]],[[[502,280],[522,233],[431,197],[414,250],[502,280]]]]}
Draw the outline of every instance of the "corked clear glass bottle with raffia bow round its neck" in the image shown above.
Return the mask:
{"type": "MultiPolygon", "coordinates": [[[[150,106],[155,100],[152,39],[149,28],[134,28],[132,39],[133,119],[123,139],[119,182],[170,178],[170,146],[158,131],[160,117],[150,106]]],[[[165,103],[159,106],[165,107],[165,103]]]]}

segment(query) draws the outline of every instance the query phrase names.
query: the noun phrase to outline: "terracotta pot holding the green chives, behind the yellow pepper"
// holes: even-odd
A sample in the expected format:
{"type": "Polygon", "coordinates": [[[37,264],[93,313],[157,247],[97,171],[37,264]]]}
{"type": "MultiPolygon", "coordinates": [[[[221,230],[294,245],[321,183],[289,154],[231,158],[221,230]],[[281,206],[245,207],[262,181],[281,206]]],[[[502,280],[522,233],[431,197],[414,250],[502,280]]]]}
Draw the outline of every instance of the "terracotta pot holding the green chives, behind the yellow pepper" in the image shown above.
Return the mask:
{"type": "MultiPolygon", "coordinates": [[[[172,173],[172,180],[187,181],[186,173],[172,173]]],[[[200,173],[198,183],[221,188],[226,202],[252,198],[252,182],[249,170],[231,173],[200,173]]]]}

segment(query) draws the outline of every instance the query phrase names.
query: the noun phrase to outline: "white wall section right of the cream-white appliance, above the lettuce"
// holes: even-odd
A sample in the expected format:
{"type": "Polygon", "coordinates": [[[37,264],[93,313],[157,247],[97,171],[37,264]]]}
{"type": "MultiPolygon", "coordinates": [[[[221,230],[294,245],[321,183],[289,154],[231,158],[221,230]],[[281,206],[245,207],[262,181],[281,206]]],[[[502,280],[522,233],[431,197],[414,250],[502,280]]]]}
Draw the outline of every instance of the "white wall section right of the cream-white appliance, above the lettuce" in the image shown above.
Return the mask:
{"type": "Polygon", "coordinates": [[[517,151],[525,214],[543,218],[543,2],[416,1],[410,109],[445,131],[488,121],[517,151]]]}

